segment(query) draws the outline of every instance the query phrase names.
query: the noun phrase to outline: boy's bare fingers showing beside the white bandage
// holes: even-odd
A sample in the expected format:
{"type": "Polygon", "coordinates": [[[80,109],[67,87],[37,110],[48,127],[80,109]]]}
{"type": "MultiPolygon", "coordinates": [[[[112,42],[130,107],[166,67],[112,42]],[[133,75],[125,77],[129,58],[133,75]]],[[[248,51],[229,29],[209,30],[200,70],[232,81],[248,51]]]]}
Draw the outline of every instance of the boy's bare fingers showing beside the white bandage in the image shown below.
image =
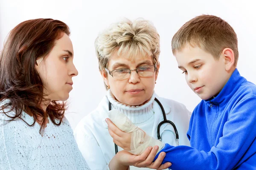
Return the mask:
{"type": "Polygon", "coordinates": [[[106,119],[106,122],[108,124],[108,132],[113,138],[113,142],[124,150],[131,150],[131,133],[120,130],[110,119],[106,119]]]}

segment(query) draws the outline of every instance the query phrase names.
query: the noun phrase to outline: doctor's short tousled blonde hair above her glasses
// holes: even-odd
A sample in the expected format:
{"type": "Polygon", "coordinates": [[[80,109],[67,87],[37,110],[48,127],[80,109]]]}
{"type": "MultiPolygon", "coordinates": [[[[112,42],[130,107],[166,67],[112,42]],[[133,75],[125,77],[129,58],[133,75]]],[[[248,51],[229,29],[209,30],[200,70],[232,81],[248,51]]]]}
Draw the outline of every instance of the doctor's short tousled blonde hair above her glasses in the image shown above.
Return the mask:
{"type": "Polygon", "coordinates": [[[95,40],[96,55],[99,60],[99,71],[108,67],[108,60],[118,50],[128,57],[137,54],[150,55],[154,65],[158,65],[160,54],[160,37],[153,23],[142,18],[133,22],[123,20],[112,24],[108,29],[98,35],[95,40]]]}

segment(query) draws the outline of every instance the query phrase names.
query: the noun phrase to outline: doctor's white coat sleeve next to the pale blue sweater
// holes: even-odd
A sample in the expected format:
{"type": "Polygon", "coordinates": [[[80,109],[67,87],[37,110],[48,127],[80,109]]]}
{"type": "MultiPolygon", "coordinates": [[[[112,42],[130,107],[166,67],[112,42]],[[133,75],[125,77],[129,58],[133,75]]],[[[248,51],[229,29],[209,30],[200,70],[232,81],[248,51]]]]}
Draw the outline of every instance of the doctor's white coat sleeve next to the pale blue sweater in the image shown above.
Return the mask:
{"type": "Polygon", "coordinates": [[[93,134],[89,135],[89,133],[90,130],[82,122],[77,125],[74,131],[74,136],[82,156],[87,161],[91,170],[109,170],[109,162],[105,161],[98,142],[93,138],[93,134]]]}

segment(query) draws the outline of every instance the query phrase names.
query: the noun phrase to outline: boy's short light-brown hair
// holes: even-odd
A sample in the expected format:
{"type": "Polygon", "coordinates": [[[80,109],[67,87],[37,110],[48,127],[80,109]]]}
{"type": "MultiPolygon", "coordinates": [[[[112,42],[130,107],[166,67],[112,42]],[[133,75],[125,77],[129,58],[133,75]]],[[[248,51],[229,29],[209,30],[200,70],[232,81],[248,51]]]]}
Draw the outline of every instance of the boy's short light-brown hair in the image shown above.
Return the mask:
{"type": "Polygon", "coordinates": [[[215,59],[220,57],[225,48],[231,48],[235,55],[234,65],[237,65],[239,52],[236,33],[220,17],[200,15],[186,22],[172,38],[172,53],[175,55],[186,44],[192,47],[197,45],[215,59]]]}

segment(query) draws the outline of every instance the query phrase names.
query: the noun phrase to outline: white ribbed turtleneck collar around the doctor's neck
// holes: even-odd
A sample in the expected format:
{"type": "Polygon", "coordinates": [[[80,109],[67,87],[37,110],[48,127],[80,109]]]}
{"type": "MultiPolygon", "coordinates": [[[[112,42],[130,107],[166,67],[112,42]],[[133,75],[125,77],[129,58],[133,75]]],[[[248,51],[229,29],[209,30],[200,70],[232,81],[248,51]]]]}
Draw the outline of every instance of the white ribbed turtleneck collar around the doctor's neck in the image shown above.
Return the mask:
{"type": "Polygon", "coordinates": [[[155,92],[153,93],[149,101],[141,106],[128,106],[118,102],[111,93],[111,90],[108,90],[107,97],[112,104],[112,109],[118,109],[119,111],[124,113],[125,116],[127,116],[128,119],[130,119],[131,122],[133,122],[133,124],[140,124],[146,122],[154,114],[153,102],[155,98],[155,92]]]}

